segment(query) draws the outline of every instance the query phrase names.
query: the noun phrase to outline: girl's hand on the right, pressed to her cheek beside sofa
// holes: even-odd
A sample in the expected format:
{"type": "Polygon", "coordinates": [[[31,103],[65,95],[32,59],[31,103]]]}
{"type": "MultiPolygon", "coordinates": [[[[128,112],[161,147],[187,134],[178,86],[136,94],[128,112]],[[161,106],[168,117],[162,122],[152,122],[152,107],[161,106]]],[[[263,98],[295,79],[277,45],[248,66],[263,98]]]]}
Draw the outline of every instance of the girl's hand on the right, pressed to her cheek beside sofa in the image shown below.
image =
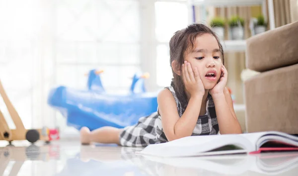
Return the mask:
{"type": "Polygon", "coordinates": [[[222,66],[221,71],[222,71],[222,76],[221,76],[218,84],[216,84],[214,88],[209,90],[209,93],[213,97],[218,96],[220,94],[224,94],[224,88],[225,88],[226,82],[227,82],[227,71],[226,71],[224,65],[222,66]]]}

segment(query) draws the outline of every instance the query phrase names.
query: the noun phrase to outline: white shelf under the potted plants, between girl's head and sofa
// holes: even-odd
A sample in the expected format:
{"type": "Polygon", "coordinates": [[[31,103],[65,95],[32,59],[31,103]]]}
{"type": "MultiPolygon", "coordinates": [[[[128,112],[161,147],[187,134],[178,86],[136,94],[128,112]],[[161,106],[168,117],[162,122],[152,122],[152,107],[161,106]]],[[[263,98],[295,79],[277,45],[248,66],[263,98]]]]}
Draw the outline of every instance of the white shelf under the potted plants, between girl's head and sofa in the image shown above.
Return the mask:
{"type": "Polygon", "coordinates": [[[224,52],[227,51],[245,51],[246,40],[224,40],[221,41],[224,52]]]}

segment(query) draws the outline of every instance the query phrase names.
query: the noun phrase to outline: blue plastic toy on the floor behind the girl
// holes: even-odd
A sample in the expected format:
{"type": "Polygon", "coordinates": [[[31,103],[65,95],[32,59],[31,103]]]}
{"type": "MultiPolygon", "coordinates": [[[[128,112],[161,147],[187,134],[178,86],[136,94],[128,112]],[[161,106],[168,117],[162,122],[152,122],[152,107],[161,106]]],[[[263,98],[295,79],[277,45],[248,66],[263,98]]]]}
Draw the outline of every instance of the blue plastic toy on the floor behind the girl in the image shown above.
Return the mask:
{"type": "Polygon", "coordinates": [[[144,86],[146,74],[135,74],[130,93],[109,94],[99,74],[94,70],[90,73],[86,90],[60,86],[49,93],[48,104],[67,118],[69,126],[78,130],[83,126],[90,130],[103,126],[124,128],[157,110],[157,92],[147,92],[144,86]]]}

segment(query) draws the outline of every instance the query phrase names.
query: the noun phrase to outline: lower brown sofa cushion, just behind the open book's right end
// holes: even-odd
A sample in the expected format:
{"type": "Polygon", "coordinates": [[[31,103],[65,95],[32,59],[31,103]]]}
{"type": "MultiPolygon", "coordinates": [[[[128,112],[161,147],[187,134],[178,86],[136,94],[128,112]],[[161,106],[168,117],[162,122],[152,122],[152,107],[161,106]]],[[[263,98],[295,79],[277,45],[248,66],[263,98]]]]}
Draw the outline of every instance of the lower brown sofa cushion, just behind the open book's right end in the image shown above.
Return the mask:
{"type": "Polygon", "coordinates": [[[246,130],[298,134],[298,64],[244,82],[246,130]]]}

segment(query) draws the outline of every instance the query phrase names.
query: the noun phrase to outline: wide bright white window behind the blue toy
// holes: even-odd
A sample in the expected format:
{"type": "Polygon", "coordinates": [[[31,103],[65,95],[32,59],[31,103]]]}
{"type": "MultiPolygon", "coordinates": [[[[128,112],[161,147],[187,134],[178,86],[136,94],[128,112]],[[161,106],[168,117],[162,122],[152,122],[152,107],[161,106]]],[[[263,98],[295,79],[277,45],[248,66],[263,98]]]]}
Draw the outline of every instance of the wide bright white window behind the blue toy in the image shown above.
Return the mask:
{"type": "MultiPolygon", "coordinates": [[[[140,70],[139,0],[57,0],[56,84],[86,89],[89,70],[100,75],[107,92],[128,92],[140,70]]],[[[77,130],[57,113],[62,137],[77,130]]]]}

